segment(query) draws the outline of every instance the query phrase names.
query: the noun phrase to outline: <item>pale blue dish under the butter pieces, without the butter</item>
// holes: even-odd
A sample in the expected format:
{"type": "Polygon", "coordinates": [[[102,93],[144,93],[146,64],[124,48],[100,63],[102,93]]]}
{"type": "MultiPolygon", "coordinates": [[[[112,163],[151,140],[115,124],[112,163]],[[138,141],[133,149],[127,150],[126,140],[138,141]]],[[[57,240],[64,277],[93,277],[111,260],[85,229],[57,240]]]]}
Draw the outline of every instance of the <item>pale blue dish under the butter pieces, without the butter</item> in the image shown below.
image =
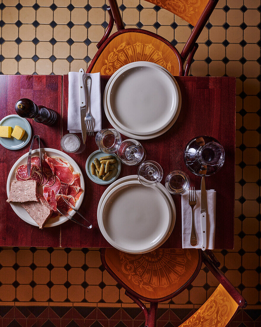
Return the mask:
{"type": "Polygon", "coordinates": [[[0,137],[0,144],[9,150],[22,149],[22,147],[26,146],[26,144],[30,141],[32,136],[31,125],[25,118],[22,118],[18,115],[9,115],[0,121],[0,126],[11,126],[12,131],[16,125],[25,129],[25,133],[21,140],[17,140],[12,136],[10,138],[0,137]]]}

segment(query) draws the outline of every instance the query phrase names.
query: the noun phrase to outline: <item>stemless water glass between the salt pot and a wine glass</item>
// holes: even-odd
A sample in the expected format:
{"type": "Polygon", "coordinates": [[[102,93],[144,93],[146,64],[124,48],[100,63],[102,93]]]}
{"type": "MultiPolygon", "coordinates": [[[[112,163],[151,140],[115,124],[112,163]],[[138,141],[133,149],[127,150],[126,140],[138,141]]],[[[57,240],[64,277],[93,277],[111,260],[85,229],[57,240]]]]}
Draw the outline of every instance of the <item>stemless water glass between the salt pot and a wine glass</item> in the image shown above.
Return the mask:
{"type": "Polygon", "coordinates": [[[99,149],[105,153],[114,153],[121,143],[121,135],[116,129],[102,129],[95,136],[99,149]]]}

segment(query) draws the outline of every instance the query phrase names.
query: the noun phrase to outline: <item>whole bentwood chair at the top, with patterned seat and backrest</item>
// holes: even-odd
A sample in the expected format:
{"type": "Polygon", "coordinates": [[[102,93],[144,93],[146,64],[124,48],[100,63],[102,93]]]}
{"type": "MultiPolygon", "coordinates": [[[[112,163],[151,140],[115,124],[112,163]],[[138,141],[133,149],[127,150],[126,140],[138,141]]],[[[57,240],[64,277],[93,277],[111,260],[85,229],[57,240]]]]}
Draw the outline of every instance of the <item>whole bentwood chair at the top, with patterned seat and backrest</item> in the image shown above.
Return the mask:
{"type": "Polygon", "coordinates": [[[181,53],[163,37],[138,28],[124,28],[116,0],[108,0],[110,21],[97,44],[98,51],[87,72],[112,75],[120,67],[134,61],[151,61],[166,68],[174,76],[187,76],[198,48],[196,43],[218,0],[146,0],[167,9],[187,21],[192,33],[181,53]],[[117,32],[112,34],[113,25],[117,32]],[[187,62],[186,62],[187,59],[187,62]],[[185,64],[186,62],[186,64],[185,64]],[[185,68],[184,68],[185,65],[185,68]]]}

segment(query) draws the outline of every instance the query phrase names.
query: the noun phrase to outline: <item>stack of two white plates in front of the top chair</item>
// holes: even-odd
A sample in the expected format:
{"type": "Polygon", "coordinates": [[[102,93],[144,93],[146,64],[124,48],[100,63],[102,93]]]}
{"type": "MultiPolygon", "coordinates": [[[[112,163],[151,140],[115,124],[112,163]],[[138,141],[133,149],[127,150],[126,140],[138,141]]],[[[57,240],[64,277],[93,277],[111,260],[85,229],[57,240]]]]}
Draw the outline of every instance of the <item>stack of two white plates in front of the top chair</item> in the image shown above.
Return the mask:
{"type": "Polygon", "coordinates": [[[153,62],[131,62],[109,79],[103,96],[105,114],[121,134],[139,140],[169,130],[180,112],[175,78],[153,62]]]}

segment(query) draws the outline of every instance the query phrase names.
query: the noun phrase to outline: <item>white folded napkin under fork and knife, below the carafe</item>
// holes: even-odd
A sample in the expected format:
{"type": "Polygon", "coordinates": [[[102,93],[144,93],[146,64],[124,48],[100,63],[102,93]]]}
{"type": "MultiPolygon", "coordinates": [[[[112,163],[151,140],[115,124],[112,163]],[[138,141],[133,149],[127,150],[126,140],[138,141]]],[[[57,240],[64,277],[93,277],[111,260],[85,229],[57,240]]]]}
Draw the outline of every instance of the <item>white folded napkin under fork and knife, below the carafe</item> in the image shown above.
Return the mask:
{"type": "MultiPolygon", "coordinates": [[[[194,207],[194,222],[197,234],[197,245],[190,244],[190,234],[192,226],[192,210],[189,205],[189,192],[185,192],[181,197],[182,213],[182,248],[201,249],[202,232],[201,232],[201,191],[196,191],[197,204],[194,207]]],[[[216,230],[216,191],[207,190],[207,249],[213,250],[215,244],[216,230]]]]}

